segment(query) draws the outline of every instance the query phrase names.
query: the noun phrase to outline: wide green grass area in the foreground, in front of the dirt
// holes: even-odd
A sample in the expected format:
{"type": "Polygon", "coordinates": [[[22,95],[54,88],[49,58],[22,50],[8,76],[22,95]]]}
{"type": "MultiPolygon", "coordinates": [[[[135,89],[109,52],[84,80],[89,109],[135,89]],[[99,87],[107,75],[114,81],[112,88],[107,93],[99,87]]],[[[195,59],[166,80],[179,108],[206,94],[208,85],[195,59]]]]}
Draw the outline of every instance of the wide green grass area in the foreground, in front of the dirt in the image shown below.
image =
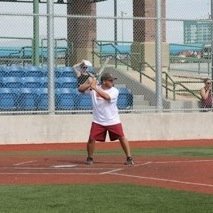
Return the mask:
{"type": "Polygon", "coordinates": [[[136,185],[0,186],[1,213],[207,213],[213,196],[136,185]]]}

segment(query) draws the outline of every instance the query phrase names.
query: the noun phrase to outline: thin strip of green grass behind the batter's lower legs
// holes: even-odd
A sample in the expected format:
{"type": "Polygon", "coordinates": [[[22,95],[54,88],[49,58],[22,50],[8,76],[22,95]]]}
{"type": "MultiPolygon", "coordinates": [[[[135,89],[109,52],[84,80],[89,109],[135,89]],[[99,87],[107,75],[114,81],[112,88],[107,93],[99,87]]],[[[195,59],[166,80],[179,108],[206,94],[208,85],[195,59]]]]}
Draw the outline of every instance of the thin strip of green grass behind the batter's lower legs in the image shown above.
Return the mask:
{"type": "MultiPolygon", "coordinates": [[[[178,148],[155,148],[155,149],[132,149],[134,156],[180,156],[180,157],[213,157],[213,147],[178,147],[178,148]]],[[[97,150],[95,155],[122,155],[121,149],[97,150]]],[[[47,151],[4,151],[0,156],[85,156],[86,150],[47,150],[47,151]]]]}

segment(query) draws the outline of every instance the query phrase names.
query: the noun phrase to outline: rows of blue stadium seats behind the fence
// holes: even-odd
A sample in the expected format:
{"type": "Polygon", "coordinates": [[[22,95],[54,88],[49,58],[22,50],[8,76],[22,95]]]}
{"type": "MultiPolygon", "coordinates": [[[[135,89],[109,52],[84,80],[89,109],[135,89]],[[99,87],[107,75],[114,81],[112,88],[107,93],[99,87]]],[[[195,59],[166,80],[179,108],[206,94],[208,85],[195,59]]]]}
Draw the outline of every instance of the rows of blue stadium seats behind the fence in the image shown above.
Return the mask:
{"type": "MultiPolygon", "coordinates": [[[[90,71],[93,72],[92,67],[90,71]]],[[[131,91],[119,88],[118,108],[130,109],[133,105],[131,91]]],[[[91,110],[92,101],[88,94],[77,90],[77,78],[72,67],[55,69],[56,110],[91,110]]],[[[47,68],[36,66],[0,67],[0,110],[47,110],[47,68]]]]}

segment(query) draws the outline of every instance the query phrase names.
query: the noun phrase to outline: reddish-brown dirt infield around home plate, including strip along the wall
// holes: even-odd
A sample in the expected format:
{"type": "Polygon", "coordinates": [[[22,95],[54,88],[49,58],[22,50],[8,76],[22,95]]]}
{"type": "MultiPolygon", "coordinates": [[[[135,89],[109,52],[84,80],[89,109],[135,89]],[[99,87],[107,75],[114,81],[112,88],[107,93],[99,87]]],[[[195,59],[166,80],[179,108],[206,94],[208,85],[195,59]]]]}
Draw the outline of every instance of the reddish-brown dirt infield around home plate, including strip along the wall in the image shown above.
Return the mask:
{"type": "MultiPolygon", "coordinates": [[[[212,141],[132,142],[134,148],[212,146],[212,141]]],[[[99,143],[113,149],[118,143],[99,143]]],[[[85,149],[85,144],[3,145],[0,151],[85,149]]],[[[213,194],[213,159],[177,157],[135,158],[132,167],[121,156],[97,156],[87,166],[82,156],[1,156],[0,184],[133,183],[213,194]]]]}

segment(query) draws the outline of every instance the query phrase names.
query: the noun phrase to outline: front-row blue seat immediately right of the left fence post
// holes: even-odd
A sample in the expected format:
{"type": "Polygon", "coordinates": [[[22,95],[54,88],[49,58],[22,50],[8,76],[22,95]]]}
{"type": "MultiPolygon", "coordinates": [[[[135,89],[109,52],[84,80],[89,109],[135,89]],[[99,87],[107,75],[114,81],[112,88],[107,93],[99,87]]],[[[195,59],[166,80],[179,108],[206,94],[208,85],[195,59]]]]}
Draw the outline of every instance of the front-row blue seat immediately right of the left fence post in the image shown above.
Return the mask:
{"type": "Polygon", "coordinates": [[[56,89],[56,110],[74,110],[77,90],[71,88],[56,89]]]}

